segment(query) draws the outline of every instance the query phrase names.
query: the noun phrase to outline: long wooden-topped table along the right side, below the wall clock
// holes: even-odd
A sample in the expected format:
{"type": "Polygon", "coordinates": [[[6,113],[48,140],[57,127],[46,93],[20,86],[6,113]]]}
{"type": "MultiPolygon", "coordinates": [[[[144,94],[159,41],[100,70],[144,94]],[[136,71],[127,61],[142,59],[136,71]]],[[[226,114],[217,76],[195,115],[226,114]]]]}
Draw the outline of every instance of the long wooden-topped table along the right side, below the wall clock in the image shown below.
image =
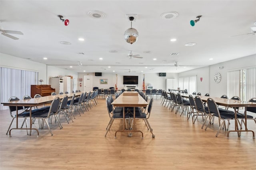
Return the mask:
{"type": "MultiPolygon", "coordinates": [[[[188,98],[188,94],[182,94],[180,93],[182,97],[188,98]]],[[[196,95],[192,95],[195,97],[196,95]]],[[[207,102],[208,98],[212,98],[217,105],[225,106],[225,107],[233,107],[234,108],[234,113],[235,113],[235,130],[229,130],[227,136],[229,137],[230,132],[237,132],[238,136],[240,136],[241,132],[252,132],[252,138],[255,138],[254,131],[253,130],[248,130],[247,128],[247,113],[246,113],[246,108],[247,107],[256,107],[255,102],[248,102],[248,101],[238,101],[238,100],[233,100],[233,99],[224,99],[220,97],[211,97],[211,96],[199,96],[202,101],[207,102]],[[244,107],[244,119],[245,119],[245,130],[240,130],[238,129],[238,120],[237,120],[237,112],[236,112],[236,107],[244,107]]]]}

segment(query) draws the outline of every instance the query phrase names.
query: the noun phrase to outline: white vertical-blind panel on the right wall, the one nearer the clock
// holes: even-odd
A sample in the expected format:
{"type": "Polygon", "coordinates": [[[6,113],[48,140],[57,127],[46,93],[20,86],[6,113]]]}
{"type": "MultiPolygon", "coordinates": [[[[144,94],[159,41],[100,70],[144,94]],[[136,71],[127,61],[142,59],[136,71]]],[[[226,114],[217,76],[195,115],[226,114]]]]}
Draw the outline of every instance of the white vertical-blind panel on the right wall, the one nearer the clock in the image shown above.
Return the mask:
{"type": "Polygon", "coordinates": [[[243,100],[242,95],[242,70],[228,71],[228,97],[233,96],[240,97],[243,100]]]}

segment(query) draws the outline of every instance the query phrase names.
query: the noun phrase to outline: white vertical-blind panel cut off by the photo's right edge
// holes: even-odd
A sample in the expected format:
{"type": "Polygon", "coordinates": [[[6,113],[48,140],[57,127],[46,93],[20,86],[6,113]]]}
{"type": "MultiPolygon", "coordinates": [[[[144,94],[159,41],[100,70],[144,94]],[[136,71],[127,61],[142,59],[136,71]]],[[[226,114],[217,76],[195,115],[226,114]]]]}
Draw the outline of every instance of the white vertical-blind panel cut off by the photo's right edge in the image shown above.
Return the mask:
{"type": "Polygon", "coordinates": [[[256,97],[256,68],[246,69],[245,76],[245,101],[256,97]]]}

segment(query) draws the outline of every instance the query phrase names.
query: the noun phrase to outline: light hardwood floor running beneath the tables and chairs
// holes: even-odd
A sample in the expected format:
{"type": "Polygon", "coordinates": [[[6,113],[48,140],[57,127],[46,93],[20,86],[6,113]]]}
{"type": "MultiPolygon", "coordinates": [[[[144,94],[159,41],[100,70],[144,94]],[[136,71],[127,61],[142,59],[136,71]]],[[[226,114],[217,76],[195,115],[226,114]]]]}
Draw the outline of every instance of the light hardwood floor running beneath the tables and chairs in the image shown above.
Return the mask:
{"type": "MultiPolygon", "coordinates": [[[[116,120],[108,132],[109,121],[105,99],[81,116],[77,113],[74,122],[67,124],[62,115],[63,128],[57,124],[36,131],[32,135],[26,130],[12,130],[12,137],[6,135],[11,121],[8,110],[0,112],[0,169],[1,170],[120,170],[120,169],[256,169],[256,141],[251,132],[241,137],[221,130],[218,137],[217,119],[207,130],[201,129],[202,118],[195,124],[180,117],[154,100],[149,123],[155,138],[143,121],[136,121],[137,129],[144,132],[127,137],[121,121],[116,120]]],[[[175,109],[174,109],[175,111],[175,109]]],[[[15,123],[13,123],[13,126],[15,123]]],[[[34,127],[38,127],[36,122],[34,127]]],[[[230,129],[234,129],[231,121],[230,129]]],[[[248,128],[256,132],[256,124],[248,121],[248,128]]]]}

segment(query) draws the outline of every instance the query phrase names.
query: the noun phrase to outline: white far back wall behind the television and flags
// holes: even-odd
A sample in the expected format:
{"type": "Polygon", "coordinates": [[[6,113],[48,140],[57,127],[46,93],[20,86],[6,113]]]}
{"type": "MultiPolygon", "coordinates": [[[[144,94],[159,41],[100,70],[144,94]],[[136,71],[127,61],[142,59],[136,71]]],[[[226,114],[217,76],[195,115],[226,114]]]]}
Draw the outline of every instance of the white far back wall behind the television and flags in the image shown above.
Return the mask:
{"type": "Polygon", "coordinates": [[[83,86],[80,87],[79,83],[84,84],[84,75],[92,75],[92,87],[99,87],[100,89],[108,89],[109,87],[115,87],[117,74],[117,87],[118,89],[124,89],[123,76],[124,75],[136,75],[138,76],[138,89],[142,89],[143,75],[145,75],[145,88],[150,83],[153,88],[166,89],[166,79],[178,79],[178,73],[166,73],[166,77],[159,77],[158,73],[102,73],[102,76],[95,76],[94,73],[78,73],[78,79],[82,78],[82,82],[78,82],[78,89],[83,90],[83,86]],[[108,79],[107,85],[100,84],[100,79],[108,79]]]}

